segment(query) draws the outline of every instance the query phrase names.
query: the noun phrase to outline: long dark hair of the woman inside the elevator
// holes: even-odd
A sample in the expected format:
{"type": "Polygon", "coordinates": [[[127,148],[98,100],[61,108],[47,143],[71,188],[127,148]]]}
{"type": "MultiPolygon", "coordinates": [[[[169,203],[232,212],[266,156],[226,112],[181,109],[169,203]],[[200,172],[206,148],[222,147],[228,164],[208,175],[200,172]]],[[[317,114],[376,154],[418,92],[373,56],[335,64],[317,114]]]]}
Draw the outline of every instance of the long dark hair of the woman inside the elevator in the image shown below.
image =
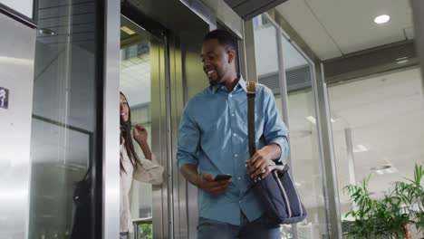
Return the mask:
{"type": "MultiPolygon", "coordinates": [[[[127,122],[124,122],[124,120],[122,120],[122,117],[120,116],[120,127],[122,128],[122,137],[125,140],[125,149],[127,149],[127,155],[128,158],[130,158],[130,162],[132,164],[132,167],[134,167],[134,169],[137,169],[137,162],[140,162],[139,157],[137,156],[135,150],[134,150],[134,144],[132,143],[132,135],[131,135],[131,110],[130,110],[130,104],[128,103],[127,98],[125,97],[125,95],[120,92],[120,95],[123,96],[123,98],[127,101],[128,104],[128,120],[127,122]]],[[[123,167],[122,164],[122,153],[120,153],[120,171],[125,172],[125,168],[123,167]]]]}

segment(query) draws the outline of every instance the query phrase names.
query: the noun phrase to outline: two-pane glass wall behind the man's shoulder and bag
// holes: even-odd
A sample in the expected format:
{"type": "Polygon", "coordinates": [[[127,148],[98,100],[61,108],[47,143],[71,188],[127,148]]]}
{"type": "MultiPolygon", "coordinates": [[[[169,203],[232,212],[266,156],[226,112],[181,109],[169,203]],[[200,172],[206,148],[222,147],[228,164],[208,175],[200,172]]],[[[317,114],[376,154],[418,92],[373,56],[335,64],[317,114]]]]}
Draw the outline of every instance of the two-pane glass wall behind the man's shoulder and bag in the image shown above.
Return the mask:
{"type": "Polygon", "coordinates": [[[265,16],[256,17],[254,27],[258,81],[274,91],[277,110],[288,126],[287,163],[308,212],[293,228],[284,226],[282,238],[328,238],[312,66],[265,16]]]}

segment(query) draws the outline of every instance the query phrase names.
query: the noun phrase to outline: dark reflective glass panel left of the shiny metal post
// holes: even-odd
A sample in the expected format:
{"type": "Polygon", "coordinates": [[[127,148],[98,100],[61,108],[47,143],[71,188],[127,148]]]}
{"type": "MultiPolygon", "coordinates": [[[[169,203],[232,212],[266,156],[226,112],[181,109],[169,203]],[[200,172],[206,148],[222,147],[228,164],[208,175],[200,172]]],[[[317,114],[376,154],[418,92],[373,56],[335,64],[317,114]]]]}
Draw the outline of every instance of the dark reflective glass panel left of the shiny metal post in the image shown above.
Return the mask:
{"type": "Polygon", "coordinates": [[[38,1],[28,238],[99,238],[90,167],[98,158],[98,4],[38,1]]]}

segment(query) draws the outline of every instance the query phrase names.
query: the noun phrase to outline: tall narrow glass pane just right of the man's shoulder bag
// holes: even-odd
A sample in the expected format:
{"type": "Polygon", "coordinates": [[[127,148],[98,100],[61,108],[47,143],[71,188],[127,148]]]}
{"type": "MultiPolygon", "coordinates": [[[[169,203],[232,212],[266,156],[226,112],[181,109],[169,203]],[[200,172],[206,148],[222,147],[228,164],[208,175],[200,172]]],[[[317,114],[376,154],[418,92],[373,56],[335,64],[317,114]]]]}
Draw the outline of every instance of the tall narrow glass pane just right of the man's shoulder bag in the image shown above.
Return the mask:
{"type": "Polygon", "coordinates": [[[323,174],[309,62],[283,37],[288,91],[288,124],[295,185],[308,212],[297,225],[298,238],[327,238],[323,174]]]}

